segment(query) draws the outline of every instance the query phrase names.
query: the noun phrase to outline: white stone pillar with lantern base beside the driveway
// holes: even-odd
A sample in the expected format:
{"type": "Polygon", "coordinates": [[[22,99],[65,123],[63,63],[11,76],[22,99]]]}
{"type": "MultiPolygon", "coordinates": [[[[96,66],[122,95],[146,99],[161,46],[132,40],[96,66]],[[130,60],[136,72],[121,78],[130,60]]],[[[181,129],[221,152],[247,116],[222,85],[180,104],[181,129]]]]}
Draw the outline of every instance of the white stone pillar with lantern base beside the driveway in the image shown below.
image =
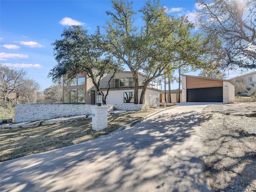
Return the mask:
{"type": "Polygon", "coordinates": [[[100,131],[108,127],[108,106],[92,106],[92,129],[100,131]]]}

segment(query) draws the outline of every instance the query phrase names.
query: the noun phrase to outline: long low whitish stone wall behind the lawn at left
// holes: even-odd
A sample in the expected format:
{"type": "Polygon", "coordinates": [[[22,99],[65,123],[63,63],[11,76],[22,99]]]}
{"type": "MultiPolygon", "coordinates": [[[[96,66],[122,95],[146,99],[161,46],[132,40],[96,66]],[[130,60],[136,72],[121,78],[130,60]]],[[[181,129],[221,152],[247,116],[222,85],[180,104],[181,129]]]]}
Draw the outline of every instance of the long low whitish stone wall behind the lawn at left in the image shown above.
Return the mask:
{"type": "MultiPolygon", "coordinates": [[[[96,105],[18,104],[15,105],[15,122],[89,115],[92,114],[92,106],[96,105]]],[[[105,106],[108,106],[108,112],[113,110],[113,105],[105,106]]]]}

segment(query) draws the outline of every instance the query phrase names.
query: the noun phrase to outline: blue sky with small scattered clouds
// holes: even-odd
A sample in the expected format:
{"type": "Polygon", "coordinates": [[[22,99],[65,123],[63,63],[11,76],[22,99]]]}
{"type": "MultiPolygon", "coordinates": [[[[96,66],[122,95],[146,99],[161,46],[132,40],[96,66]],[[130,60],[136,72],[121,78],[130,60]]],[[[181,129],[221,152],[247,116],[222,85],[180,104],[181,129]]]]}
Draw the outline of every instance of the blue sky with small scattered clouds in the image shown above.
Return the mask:
{"type": "MultiPolygon", "coordinates": [[[[144,0],[134,0],[134,10],[137,12],[144,3],[144,0]]],[[[162,0],[161,4],[169,9],[168,14],[186,15],[194,21],[194,0],[162,0]]],[[[94,33],[97,26],[103,26],[109,20],[108,10],[112,10],[109,0],[1,0],[0,63],[24,68],[27,77],[36,80],[43,91],[52,85],[47,75],[57,64],[51,44],[61,38],[63,29],[79,24],[94,33]]],[[[140,19],[137,15],[135,23],[140,25],[140,19]]],[[[228,78],[237,74],[241,72],[230,72],[228,78]]],[[[172,89],[176,88],[178,84],[173,84],[172,89]]]]}

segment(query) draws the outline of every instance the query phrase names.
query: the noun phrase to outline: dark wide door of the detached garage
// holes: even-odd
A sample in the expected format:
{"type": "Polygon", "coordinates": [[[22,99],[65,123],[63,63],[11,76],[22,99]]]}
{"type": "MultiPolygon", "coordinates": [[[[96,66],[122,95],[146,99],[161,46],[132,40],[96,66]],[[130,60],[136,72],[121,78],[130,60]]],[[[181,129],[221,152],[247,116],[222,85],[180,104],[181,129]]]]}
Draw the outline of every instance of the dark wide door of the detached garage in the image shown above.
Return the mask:
{"type": "Polygon", "coordinates": [[[223,102],[222,87],[188,89],[187,102],[223,102]]]}

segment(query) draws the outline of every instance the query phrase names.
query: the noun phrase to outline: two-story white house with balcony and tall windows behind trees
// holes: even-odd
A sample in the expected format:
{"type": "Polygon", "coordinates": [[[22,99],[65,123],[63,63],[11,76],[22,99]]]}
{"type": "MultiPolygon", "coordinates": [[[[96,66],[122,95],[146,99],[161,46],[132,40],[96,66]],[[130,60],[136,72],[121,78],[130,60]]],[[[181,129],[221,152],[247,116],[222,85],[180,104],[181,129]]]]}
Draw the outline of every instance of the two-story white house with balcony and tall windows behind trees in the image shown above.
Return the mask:
{"type": "MultiPolygon", "coordinates": [[[[106,104],[134,103],[134,81],[132,72],[118,72],[110,81],[110,85],[108,85],[110,78],[110,75],[106,75],[100,81],[100,90],[102,90],[104,95],[106,95],[107,88],[110,86],[106,104]]],[[[145,76],[142,73],[138,73],[139,100],[144,80],[145,76]]],[[[160,91],[161,84],[150,83],[144,96],[144,103],[148,103],[150,107],[159,106],[160,91]]],[[[86,77],[86,72],[77,76],[74,82],[69,85],[65,84],[65,82],[63,83],[64,104],[96,104],[96,94],[98,94],[98,92],[90,78],[86,77]]]]}

